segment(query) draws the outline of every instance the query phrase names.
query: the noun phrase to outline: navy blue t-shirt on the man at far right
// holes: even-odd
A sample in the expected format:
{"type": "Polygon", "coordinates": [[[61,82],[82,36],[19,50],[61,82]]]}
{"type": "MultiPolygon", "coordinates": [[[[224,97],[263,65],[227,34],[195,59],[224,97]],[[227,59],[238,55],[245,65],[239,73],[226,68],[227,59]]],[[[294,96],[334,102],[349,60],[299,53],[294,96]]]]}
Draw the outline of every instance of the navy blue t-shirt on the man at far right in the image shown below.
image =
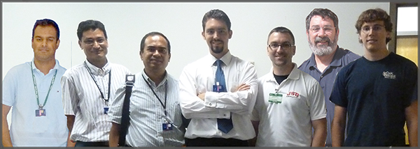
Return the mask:
{"type": "Polygon", "coordinates": [[[359,58],[337,74],[330,101],[347,109],[344,146],[405,146],[405,108],[417,99],[416,65],[390,53],[359,58]]]}

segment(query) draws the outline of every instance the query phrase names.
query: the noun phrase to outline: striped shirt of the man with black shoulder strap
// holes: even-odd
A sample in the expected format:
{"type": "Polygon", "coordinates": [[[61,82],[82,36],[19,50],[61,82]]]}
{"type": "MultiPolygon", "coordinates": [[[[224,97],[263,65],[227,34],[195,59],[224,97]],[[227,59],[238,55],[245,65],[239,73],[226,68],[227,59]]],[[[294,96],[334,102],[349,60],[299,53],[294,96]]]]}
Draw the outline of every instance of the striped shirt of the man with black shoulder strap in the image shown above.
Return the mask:
{"type": "MultiPolygon", "coordinates": [[[[124,98],[125,86],[120,86],[109,108],[109,120],[113,123],[121,123],[124,98]]],[[[156,86],[144,71],[137,73],[130,97],[130,126],[126,144],[132,147],[182,146],[185,127],[182,125],[181,115],[179,86],[174,77],[167,74],[165,79],[156,86]],[[164,105],[165,93],[167,94],[167,116],[158,97],[151,89],[164,105]],[[173,129],[164,131],[163,123],[172,123],[173,129]]]]}

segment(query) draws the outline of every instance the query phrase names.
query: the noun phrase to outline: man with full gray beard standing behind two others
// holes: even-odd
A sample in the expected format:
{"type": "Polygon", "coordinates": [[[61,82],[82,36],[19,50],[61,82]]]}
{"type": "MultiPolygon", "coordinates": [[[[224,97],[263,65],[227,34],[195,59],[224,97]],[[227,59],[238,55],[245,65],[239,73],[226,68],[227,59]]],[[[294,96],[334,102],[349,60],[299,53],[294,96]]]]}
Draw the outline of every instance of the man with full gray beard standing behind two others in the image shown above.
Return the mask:
{"type": "Polygon", "coordinates": [[[360,58],[348,49],[338,47],[338,17],[327,8],[315,8],[306,18],[306,33],[311,57],[299,69],[314,77],[322,87],[327,105],[327,139],[331,146],[331,121],[335,105],[329,101],[337,72],[345,65],[360,58]]]}

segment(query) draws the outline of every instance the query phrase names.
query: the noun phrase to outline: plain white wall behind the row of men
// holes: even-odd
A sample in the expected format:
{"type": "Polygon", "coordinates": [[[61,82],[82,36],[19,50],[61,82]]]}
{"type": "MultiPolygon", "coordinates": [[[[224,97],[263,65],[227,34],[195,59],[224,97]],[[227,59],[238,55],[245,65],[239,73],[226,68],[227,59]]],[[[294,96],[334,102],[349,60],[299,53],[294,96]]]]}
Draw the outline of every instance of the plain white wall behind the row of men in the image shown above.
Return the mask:
{"type": "MultiPolygon", "coordinates": [[[[15,65],[31,61],[32,27],[36,19],[55,20],[60,29],[60,45],[56,58],[64,68],[82,63],[83,51],[78,46],[76,29],[86,19],[105,24],[109,37],[107,57],[113,63],[140,72],[141,38],[150,31],[160,31],[169,38],[172,58],[167,71],[179,77],[184,65],[209,53],[201,36],[202,17],[218,8],[228,14],[233,36],[230,52],[254,61],[258,76],[266,74],[271,61],[266,54],[267,34],[276,26],[286,26],[296,40],[293,61],[300,65],[309,58],[305,18],[314,8],[328,8],[339,17],[338,45],[363,55],[354,24],[361,12],[382,8],[389,3],[2,3],[2,75],[15,65]]],[[[10,120],[9,120],[10,122],[10,120]]]]}

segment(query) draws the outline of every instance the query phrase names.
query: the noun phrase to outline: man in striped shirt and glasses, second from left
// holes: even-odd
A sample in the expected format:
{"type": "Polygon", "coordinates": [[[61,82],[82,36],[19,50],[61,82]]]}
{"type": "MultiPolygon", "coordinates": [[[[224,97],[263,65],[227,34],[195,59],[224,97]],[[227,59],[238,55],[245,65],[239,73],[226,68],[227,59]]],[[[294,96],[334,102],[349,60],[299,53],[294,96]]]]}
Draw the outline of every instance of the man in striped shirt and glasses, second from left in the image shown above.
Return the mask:
{"type": "Polygon", "coordinates": [[[62,84],[64,114],[67,116],[67,146],[109,146],[109,103],[116,89],[125,84],[130,70],[109,63],[105,26],[97,20],[80,22],[78,44],[86,61],[66,70],[62,84]],[[74,143],[76,142],[76,143],[74,143]]]}

